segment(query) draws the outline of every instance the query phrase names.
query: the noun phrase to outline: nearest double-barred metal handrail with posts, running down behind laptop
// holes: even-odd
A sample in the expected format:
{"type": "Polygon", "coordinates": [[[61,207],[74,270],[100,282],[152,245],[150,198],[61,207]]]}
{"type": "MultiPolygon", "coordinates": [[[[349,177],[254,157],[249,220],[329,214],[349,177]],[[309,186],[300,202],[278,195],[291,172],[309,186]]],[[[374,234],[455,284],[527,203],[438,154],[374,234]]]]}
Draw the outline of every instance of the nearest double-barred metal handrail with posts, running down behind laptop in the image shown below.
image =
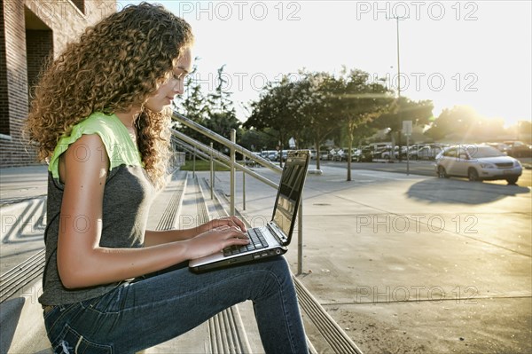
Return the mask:
{"type": "MultiPolygon", "coordinates": [[[[281,173],[283,169],[281,169],[280,167],[278,167],[277,165],[271,163],[270,161],[262,158],[261,156],[258,156],[254,153],[252,153],[251,151],[247,150],[245,147],[243,146],[239,146],[238,144],[236,144],[236,130],[231,130],[231,140],[230,139],[227,139],[227,138],[223,138],[220,134],[217,134],[215,133],[214,131],[212,130],[208,130],[206,127],[200,125],[199,123],[197,122],[194,122],[192,121],[191,119],[185,117],[183,114],[179,114],[177,113],[176,111],[173,112],[172,114],[172,119],[176,122],[180,122],[181,124],[183,124],[184,126],[192,129],[192,130],[196,130],[197,132],[199,132],[200,134],[206,136],[207,138],[211,138],[212,140],[215,140],[216,142],[222,144],[223,146],[226,146],[230,149],[231,151],[231,157],[228,157],[226,155],[224,155],[223,153],[220,153],[219,151],[213,149],[212,147],[210,146],[206,146],[205,144],[202,144],[200,143],[200,141],[194,139],[194,138],[190,138],[188,136],[186,136],[185,134],[183,134],[182,132],[178,131],[178,130],[171,130],[172,134],[184,141],[185,143],[189,144],[190,146],[193,146],[193,147],[196,147],[198,149],[200,149],[202,151],[202,155],[205,156],[205,155],[208,155],[209,159],[218,159],[218,160],[222,160],[223,162],[229,162],[229,167],[230,167],[230,171],[231,171],[231,195],[230,195],[230,203],[231,203],[231,206],[230,206],[230,214],[231,216],[234,216],[235,215],[235,193],[236,193],[236,187],[235,187],[235,175],[234,175],[234,171],[235,169],[239,169],[241,171],[244,172],[244,174],[248,174],[256,179],[258,179],[259,181],[261,181],[262,183],[266,184],[266,185],[270,185],[271,187],[275,188],[275,189],[278,189],[278,184],[276,184],[275,182],[272,182],[270,181],[270,179],[266,178],[266,177],[262,177],[260,174],[256,173],[253,169],[248,169],[246,166],[243,166],[243,165],[240,165],[239,163],[237,163],[237,161],[235,161],[235,156],[236,156],[236,153],[241,153],[242,155],[244,155],[245,157],[247,157],[248,159],[256,162],[256,163],[259,163],[260,165],[268,168],[268,169],[271,169],[273,170],[274,172],[277,172],[277,173],[281,173]]],[[[219,161],[217,161],[219,162],[219,161]]],[[[212,163],[211,163],[211,169],[212,169],[212,163]]],[[[211,176],[212,176],[212,171],[211,171],[211,176]]],[[[212,188],[212,185],[213,185],[213,182],[211,181],[211,188],[212,188]]],[[[212,191],[211,191],[211,195],[212,195],[212,191]]],[[[303,240],[303,213],[302,213],[302,202],[300,203],[300,206],[299,206],[299,210],[298,210],[298,247],[297,247],[297,253],[298,253],[298,264],[297,264],[297,274],[301,274],[302,272],[302,240],[303,240]]]]}

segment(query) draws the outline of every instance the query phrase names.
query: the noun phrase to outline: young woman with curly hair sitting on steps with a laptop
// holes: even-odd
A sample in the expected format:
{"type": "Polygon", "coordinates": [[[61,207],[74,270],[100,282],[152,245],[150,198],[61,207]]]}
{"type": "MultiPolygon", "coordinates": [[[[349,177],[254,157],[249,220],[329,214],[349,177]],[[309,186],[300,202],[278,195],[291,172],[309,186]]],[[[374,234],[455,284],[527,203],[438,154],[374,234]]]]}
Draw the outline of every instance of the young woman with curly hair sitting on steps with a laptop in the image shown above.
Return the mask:
{"type": "Polygon", "coordinates": [[[160,5],[128,6],[68,45],[35,90],[26,130],[49,162],[39,301],[56,353],[133,353],[246,300],[267,352],[308,352],[283,257],[200,275],[184,265],[248,243],[238,218],[146,230],[192,41],[160,5]]]}

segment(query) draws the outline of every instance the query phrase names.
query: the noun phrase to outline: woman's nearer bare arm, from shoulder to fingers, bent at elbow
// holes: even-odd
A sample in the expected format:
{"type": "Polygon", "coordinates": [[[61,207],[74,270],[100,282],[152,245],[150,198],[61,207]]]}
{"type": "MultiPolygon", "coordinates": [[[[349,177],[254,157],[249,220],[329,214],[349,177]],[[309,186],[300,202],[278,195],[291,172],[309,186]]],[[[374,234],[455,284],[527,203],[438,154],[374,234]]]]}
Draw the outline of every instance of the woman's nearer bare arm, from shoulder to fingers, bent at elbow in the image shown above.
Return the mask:
{"type": "Polygon", "coordinates": [[[64,154],[65,184],[58,239],[63,285],[90,287],[160,271],[231,245],[246,245],[237,227],[216,227],[198,236],[145,248],[102,248],[102,204],[109,159],[98,135],[83,135],[64,154]],[[83,159],[78,158],[80,151],[83,159]]]}

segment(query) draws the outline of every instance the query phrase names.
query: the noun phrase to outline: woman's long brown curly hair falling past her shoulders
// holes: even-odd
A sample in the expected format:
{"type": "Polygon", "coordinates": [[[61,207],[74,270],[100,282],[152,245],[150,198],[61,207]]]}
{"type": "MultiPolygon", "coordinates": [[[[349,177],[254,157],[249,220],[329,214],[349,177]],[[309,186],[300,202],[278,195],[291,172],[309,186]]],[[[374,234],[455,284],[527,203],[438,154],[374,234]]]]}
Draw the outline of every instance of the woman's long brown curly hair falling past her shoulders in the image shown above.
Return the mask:
{"type": "Polygon", "coordinates": [[[143,106],[138,116],[138,147],[145,169],[161,185],[169,156],[170,111],[144,107],[192,46],[190,25],[158,4],[129,5],[69,43],[50,61],[31,102],[25,134],[38,157],[51,157],[59,138],[93,112],[113,114],[143,106]]]}

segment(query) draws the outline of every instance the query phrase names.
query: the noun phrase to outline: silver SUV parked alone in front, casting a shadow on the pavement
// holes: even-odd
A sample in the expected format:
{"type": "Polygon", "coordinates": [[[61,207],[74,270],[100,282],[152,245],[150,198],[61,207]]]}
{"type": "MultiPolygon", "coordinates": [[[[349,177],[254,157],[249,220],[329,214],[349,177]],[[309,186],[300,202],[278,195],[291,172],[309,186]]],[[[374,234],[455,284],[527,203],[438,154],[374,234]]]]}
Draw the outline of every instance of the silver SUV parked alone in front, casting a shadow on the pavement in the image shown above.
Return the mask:
{"type": "Polygon", "coordinates": [[[505,179],[515,185],[522,173],[520,161],[487,145],[450,146],[436,156],[440,178],[467,177],[470,181],[505,179]]]}

